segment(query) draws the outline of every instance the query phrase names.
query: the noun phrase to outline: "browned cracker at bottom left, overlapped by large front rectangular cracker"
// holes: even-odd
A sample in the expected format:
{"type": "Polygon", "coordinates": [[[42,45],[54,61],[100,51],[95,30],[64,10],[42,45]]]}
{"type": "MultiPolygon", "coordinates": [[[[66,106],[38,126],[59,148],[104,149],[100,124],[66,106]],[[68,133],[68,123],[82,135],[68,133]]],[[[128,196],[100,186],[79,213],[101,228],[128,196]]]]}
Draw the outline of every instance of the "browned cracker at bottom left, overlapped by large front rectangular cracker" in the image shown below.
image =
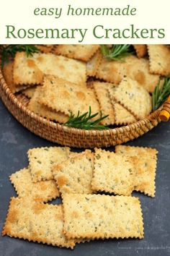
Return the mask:
{"type": "Polygon", "coordinates": [[[75,240],[63,234],[63,208],[25,198],[12,197],[3,236],[28,239],[58,247],[73,247],[75,240]]]}

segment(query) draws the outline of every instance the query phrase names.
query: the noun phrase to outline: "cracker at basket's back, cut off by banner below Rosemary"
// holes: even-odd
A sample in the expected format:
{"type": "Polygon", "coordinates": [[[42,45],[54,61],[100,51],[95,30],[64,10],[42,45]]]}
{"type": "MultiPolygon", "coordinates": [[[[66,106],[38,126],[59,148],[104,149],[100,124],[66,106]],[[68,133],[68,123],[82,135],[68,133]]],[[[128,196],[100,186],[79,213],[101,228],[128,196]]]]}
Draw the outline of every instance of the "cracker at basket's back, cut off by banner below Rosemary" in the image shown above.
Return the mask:
{"type": "Polygon", "coordinates": [[[63,44],[57,46],[55,53],[68,58],[89,61],[99,47],[98,44],[63,44]]]}

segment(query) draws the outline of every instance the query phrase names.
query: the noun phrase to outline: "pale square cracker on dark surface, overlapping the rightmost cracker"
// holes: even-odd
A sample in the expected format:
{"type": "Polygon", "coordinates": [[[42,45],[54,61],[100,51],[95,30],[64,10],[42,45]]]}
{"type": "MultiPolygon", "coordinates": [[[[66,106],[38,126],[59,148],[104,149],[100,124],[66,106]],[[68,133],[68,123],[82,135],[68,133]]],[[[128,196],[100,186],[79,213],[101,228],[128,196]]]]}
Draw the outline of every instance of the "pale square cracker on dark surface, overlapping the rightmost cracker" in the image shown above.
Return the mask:
{"type": "Polygon", "coordinates": [[[96,148],[91,187],[94,191],[131,195],[134,187],[134,170],[130,158],[96,148]]]}

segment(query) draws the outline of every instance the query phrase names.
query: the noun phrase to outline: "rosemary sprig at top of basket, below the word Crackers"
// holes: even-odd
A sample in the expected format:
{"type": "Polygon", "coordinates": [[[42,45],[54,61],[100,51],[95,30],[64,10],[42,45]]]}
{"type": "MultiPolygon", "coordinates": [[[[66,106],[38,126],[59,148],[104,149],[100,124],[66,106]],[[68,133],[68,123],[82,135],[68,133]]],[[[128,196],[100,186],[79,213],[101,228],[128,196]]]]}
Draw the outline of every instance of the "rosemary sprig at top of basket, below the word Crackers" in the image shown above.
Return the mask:
{"type": "Polygon", "coordinates": [[[122,61],[126,56],[134,54],[130,44],[115,44],[112,48],[108,48],[106,45],[102,44],[101,51],[107,59],[114,59],[115,61],[122,61]]]}

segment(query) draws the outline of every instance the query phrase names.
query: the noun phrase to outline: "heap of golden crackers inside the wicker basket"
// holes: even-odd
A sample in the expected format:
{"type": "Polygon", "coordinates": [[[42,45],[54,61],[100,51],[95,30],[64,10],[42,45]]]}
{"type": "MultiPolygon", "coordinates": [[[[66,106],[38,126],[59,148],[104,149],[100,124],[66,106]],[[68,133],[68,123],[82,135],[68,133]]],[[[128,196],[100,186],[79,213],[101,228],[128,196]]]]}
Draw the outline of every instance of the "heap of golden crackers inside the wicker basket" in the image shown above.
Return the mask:
{"type": "Polygon", "coordinates": [[[4,77],[12,93],[30,99],[27,108],[60,124],[70,114],[109,115],[105,125],[131,124],[152,111],[151,95],[161,76],[170,73],[170,48],[134,45],[122,61],[102,56],[99,45],[38,46],[28,57],[17,52],[4,77]]]}

